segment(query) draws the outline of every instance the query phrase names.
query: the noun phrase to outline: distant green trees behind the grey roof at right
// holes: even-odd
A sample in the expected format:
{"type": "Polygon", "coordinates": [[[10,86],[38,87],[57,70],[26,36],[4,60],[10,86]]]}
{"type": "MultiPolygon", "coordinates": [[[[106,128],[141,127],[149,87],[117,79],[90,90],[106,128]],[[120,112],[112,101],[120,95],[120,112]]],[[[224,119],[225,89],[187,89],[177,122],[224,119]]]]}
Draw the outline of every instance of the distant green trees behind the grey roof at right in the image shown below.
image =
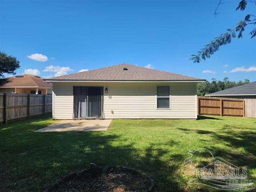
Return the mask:
{"type": "Polygon", "coordinates": [[[206,82],[199,83],[197,85],[197,95],[204,96],[205,94],[236,87],[249,82],[250,80],[248,79],[245,79],[244,81],[240,80],[238,82],[235,82],[235,81],[228,80],[227,77],[225,77],[223,81],[220,81],[220,80],[217,81],[216,79],[212,78],[212,82],[206,81],[206,82]]]}

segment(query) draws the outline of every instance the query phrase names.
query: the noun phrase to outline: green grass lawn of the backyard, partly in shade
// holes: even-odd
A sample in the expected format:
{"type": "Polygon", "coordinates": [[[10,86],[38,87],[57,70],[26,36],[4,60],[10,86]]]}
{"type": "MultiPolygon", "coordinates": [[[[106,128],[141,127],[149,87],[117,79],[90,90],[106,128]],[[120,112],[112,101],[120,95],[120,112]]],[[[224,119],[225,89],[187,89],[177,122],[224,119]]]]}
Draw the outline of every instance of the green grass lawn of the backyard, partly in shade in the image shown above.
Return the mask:
{"type": "Polygon", "coordinates": [[[106,132],[34,132],[50,116],[0,124],[0,191],[43,191],[64,175],[121,165],[152,175],[157,191],[208,191],[188,185],[188,152],[207,148],[256,180],[256,119],[113,120],[106,132]]]}

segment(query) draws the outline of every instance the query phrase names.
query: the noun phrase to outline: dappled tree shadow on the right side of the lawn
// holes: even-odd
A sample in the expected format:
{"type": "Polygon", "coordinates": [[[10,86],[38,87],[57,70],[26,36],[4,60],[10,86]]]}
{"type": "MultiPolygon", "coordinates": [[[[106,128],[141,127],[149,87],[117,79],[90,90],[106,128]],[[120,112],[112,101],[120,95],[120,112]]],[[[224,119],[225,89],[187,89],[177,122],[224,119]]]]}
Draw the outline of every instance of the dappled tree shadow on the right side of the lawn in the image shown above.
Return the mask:
{"type": "MultiPolygon", "coordinates": [[[[187,128],[178,128],[186,134],[196,133],[196,134],[208,134],[211,138],[210,140],[216,140],[220,145],[208,146],[205,147],[210,150],[214,157],[218,156],[224,160],[238,166],[246,167],[249,170],[255,170],[256,168],[256,130],[255,128],[247,128],[245,126],[233,126],[233,125],[223,125],[222,128],[216,129],[216,131],[208,130],[198,130],[198,129],[187,129],[187,128]],[[247,129],[247,131],[246,131],[247,129]],[[251,130],[251,131],[250,131],[251,130]],[[228,150],[231,149],[231,150],[228,150]]],[[[203,141],[208,141],[201,139],[203,141]]],[[[197,167],[206,166],[207,162],[202,161],[197,164],[197,167]]],[[[256,177],[250,176],[249,178],[253,179],[256,182],[256,177]]]]}

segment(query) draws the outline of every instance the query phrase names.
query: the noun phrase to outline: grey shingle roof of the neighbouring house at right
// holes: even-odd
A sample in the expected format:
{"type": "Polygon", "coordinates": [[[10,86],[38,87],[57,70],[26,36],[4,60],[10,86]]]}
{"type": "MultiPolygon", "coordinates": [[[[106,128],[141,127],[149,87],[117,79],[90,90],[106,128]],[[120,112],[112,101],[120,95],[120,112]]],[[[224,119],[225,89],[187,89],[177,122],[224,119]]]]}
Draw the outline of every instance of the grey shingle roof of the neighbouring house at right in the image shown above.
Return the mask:
{"type": "Polygon", "coordinates": [[[244,85],[228,88],[222,91],[217,91],[206,96],[214,95],[256,95],[256,81],[244,85]]]}

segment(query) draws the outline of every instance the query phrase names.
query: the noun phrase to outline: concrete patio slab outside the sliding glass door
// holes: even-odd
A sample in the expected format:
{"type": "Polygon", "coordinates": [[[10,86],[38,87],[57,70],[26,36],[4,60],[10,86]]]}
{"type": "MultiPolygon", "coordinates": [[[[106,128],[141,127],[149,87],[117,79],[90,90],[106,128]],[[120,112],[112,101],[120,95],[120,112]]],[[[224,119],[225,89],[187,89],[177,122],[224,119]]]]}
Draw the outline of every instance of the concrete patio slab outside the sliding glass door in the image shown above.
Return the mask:
{"type": "Polygon", "coordinates": [[[61,131],[106,131],[111,119],[104,120],[62,120],[56,124],[36,130],[36,132],[61,132],[61,131]]]}

